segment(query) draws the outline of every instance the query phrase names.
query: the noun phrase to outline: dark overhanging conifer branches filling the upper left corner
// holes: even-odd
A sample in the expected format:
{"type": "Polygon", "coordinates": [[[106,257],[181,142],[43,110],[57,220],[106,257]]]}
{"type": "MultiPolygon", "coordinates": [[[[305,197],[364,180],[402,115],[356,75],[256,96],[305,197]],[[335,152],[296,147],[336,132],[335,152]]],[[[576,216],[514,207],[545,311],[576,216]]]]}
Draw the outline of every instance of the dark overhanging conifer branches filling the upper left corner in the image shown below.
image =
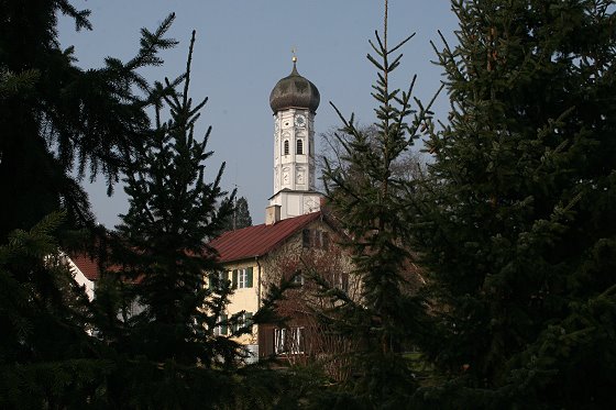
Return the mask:
{"type": "Polygon", "coordinates": [[[157,52],[175,44],[164,38],[173,16],[154,33],[142,31],[130,62],[108,57],[103,68],[82,70],[72,47],[59,48],[57,13],[89,30],[89,11],[67,0],[1,0],[0,10],[0,186],[11,199],[2,203],[0,241],[59,208],[67,223],[91,224],[78,181],[102,173],[111,189],[130,166],[150,128],[138,69],[161,64],[157,52]]]}

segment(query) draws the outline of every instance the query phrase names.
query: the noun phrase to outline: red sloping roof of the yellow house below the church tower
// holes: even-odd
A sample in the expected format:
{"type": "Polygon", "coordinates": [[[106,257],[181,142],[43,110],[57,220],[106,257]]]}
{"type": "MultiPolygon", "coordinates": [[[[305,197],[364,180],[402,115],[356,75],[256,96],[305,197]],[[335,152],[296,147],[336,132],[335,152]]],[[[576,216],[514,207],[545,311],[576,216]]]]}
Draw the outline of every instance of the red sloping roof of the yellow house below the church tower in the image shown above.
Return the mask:
{"type": "Polygon", "coordinates": [[[262,256],[320,217],[321,212],[317,211],[285,219],[272,225],[261,224],[238,231],[229,231],[211,241],[209,246],[218,251],[220,262],[262,256]]]}

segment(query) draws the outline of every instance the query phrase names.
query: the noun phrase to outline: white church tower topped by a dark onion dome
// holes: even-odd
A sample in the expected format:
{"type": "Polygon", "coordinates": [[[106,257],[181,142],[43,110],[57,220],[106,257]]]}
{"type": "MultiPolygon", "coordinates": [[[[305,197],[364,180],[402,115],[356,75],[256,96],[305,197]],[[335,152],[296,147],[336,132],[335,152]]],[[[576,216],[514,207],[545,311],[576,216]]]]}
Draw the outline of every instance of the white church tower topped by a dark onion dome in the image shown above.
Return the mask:
{"type": "Polygon", "coordinates": [[[315,176],[315,115],[319,102],[319,90],[299,75],[294,56],[290,75],[280,79],[270,95],[274,111],[274,196],[270,208],[279,207],[279,219],[320,209],[322,196],[316,190],[315,176]]]}

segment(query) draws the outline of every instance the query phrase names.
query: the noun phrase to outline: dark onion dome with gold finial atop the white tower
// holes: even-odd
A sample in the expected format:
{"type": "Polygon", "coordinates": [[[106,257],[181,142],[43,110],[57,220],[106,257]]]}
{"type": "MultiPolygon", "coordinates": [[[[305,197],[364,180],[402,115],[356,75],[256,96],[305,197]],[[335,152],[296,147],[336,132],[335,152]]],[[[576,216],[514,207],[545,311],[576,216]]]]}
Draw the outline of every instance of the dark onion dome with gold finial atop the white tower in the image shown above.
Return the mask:
{"type": "Polygon", "coordinates": [[[270,107],[274,113],[289,108],[308,109],[316,113],[321,97],[317,86],[297,73],[297,58],[293,57],[290,75],[276,82],[270,93],[270,107]]]}

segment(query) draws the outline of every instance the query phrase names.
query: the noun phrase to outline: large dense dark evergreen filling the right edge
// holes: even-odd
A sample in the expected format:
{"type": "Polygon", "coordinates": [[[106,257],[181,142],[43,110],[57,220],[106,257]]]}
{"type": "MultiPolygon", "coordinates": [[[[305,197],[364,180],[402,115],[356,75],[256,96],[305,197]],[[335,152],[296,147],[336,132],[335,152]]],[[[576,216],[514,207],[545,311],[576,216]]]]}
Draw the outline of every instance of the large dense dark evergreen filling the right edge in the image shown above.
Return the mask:
{"type": "MultiPolygon", "coordinates": [[[[613,408],[616,27],[604,0],[454,0],[450,125],[414,199],[457,408],[613,408]]],[[[435,403],[431,403],[435,406],[435,403]]]]}

